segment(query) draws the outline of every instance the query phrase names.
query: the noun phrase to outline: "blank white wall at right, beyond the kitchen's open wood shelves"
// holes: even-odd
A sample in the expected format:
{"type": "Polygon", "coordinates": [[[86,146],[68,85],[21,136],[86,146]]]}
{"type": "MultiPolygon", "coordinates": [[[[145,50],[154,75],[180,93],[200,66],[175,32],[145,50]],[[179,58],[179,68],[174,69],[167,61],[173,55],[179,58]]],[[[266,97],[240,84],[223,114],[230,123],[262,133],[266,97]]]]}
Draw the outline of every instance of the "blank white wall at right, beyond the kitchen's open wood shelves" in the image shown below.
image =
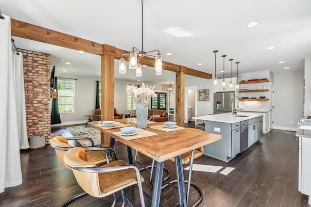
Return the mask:
{"type": "Polygon", "coordinates": [[[303,70],[274,73],[274,128],[296,130],[303,117],[303,79],[303,70]]]}

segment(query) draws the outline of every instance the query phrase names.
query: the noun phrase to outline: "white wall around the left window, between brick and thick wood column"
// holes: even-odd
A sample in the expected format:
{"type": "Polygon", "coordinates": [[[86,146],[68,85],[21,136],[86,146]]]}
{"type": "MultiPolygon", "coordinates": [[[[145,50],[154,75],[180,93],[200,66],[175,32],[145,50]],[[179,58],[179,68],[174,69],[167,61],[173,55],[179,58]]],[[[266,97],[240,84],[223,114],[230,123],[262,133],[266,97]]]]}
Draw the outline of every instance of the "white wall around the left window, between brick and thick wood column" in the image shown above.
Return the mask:
{"type": "MultiPolygon", "coordinates": [[[[58,78],[70,78],[75,80],[75,106],[73,113],[60,113],[62,121],[59,125],[86,123],[86,114],[93,114],[95,110],[96,80],[95,77],[55,74],[58,78]]],[[[53,125],[56,126],[56,125],[53,125]]]]}

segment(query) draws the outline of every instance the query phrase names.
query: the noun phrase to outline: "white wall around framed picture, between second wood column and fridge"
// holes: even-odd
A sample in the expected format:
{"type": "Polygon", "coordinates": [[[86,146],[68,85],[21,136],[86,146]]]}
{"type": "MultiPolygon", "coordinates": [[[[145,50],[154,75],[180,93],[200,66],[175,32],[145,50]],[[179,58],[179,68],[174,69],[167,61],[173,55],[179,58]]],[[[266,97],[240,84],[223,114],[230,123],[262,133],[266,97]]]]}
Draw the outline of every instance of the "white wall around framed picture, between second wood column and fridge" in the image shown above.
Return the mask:
{"type": "MultiPolygon", "coordinates": [[[[197,86],[197,89],[209,89],[209,101],[197,101],[197,116],[208,115],[213,113],[213,80],[212,79],[203,79],[199,77],[186,75],[185,78],[185,87],[197,86]],[[187,78],[189,77],[189,78],[187,78]]],[[[196,92],[198,93],[198,92],[196,92]]],[[[195,116],[195,114],[192,114],[195,116]]]]}

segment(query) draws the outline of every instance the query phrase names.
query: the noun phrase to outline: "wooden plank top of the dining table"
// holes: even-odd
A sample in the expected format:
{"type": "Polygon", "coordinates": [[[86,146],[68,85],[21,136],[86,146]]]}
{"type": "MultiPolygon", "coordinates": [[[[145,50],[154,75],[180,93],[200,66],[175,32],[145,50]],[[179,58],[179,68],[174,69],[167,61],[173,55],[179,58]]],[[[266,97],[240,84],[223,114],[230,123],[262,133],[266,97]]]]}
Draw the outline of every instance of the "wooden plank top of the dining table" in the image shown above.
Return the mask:
{"type": "MultiPolygon", "coordinates": [[[[129,127],[137,127],[136,124],[130,123],[130,121],[134,120],[136,118],[116,119],[115,121],[128,125],[129,127]]],[[[115,131],[120,131],[120,128],[103,129],[102,127],[98,127],[101,121],[88,122],[88,124],[158,162],[174,158],[222,138],[221,135],[207,133],[194,128],[185,128],[170,132],[150,128],[150,126],[164,124],[163,122],[156,122],[147,124],[147,128],[144,128],[144,130],[155,132],[156,135],[128,141],[113,134],[115,131]]]]}

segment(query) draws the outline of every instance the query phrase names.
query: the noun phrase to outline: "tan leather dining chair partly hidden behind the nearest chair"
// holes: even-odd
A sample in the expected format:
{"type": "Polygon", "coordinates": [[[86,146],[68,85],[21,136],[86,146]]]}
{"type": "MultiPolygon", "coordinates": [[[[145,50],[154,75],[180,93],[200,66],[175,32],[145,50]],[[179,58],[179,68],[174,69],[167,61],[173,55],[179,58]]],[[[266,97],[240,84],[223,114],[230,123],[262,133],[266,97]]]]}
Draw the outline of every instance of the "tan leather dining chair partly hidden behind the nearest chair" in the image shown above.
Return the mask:
{"type": "MultiPolygon", "coordinates": [[[[86,137],[70,137],[70,138],[65,138],[62,136],[57,136],[57,137],[53,137],[52,139],[50,139],[49,143],[51,144],[51,146],[55,149],[56,155],[58,160],[60,161],[60,163],[66,167],[69,170],[72,170],[64,161],[64,155],[65,152],[68,151],[69,149],[73,148],[72,145],[70,145],[68,143],[68,140],[82,140],[82,139],[88,139],[91,141],[92,146],[94,147],[94,142],[92,139],[90,138],[86,138],[86,137]]],[[[113,152],[111,153],[112,155],[115,156],[115,159],[117,158],[117,153],[113,148],[102,148],[103,150],[108,150],[109,152],[113,152]]],[[[110,160],[112,160],[111,157],[108,156],[106,151],[90,151],[86,153],[87,159],[89,160],[89,162],[95,164],[95,165],[99,165],[101,163],[105,163],[105,162],[109,162],[110,160]]],[[[69,203],[71,203],[72,201],[83,197],[87,195],[86,192],[82,192],[78,195],[72,196],[71,198],[69,198],[63,205],[62,207],[65,207],[67,205],[69,205],[69,203]]]]}

